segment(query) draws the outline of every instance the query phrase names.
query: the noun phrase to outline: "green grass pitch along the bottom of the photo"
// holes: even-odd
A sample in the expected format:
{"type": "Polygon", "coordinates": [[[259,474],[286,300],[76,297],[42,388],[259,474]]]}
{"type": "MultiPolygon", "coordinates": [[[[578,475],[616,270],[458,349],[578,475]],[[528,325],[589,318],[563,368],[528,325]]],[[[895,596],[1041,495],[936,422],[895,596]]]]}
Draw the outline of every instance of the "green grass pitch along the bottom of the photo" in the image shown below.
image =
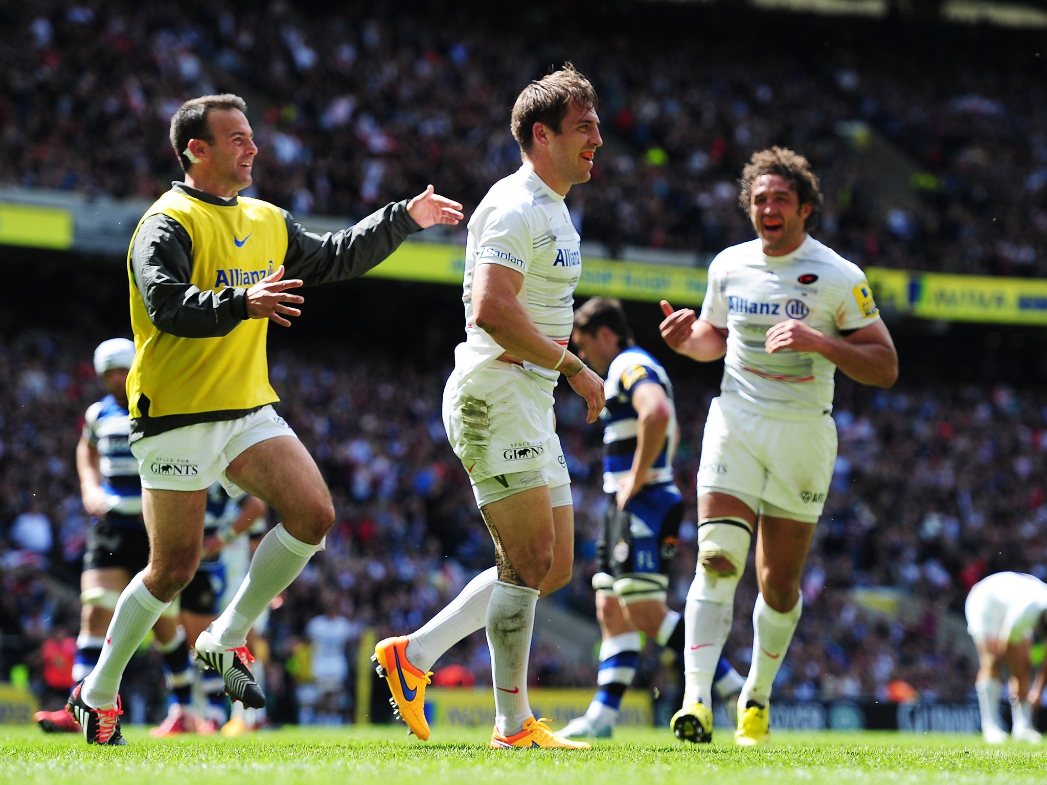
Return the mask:
{"type": "Polygon", "coordinates": [[[778,732],[741,749],[684,746],[666,730],[623,731],[588,752],[494,750],[490,732],[433,728],[428,742],[402,726],[286,728],[230,740],[153,740],[131,727],[125,747],[88,746],[0,725],[0,782],[18,785],[975,785],[1047,782],[1047,745],[993,747],[976,736],[778,732]]]}

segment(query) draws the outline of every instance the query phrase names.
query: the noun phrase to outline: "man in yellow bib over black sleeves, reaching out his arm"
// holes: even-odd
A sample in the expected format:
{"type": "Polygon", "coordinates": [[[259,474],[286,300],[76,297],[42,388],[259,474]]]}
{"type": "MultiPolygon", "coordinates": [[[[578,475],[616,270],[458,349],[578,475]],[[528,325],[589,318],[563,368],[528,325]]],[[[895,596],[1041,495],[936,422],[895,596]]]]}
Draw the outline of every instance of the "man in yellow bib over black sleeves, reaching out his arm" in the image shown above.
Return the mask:
{"type": "Polygon", "coordinates": [[[171,120],[185,172],[146,211],[128,254],[135,358],[128,375],[150,560],[120,595],[94,670],[68,710],[88,743],[122,744],[117,692],[132,653],[200,561],[207,489],[246,491],[282,522],[262,540],[232,602],[196,641],[235,700],[265,705],[248,667],[247,631],[322,547],[334,521],[313,458],[272,404],[266,332],[289,326],[292,290],[360,275],[411,232],[456,224],[462,205],[429,185],[355,226],[322,237],[279,207],[238,194],[258,154],[236,95],[186,102],[171,120]]]}

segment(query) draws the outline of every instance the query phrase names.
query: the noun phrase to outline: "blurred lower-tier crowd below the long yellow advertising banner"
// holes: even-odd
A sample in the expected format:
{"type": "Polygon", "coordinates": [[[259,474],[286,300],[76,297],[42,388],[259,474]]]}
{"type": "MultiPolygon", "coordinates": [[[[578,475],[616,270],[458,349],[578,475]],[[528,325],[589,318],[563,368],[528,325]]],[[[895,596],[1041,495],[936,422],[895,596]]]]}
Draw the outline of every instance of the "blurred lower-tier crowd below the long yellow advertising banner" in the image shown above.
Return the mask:
{"type": "MultiPolygon", "coordinates": [[[[75,630],[79,614],[74,587],[88,521],[72,456],[83,412],[99,395],[89,362],[97,337],[31,330],[0,342],[0,677],[27,663],[42,692],[41,646],[75,630]]],[[[298,716],[296,688],[306,679],[314,616],[344,619],[340,634],[352,653],[365,628],[381,637],[418,627],[493,561],[440,423],[447,369],[413,367],[383,349],[317,341],[276,352],[271,365],[281,412],[316,456],[337,511],[327,550],[271,614],[267,689],[277,719],[298,716]]],[[[670,604],[680,607],[694,569],[695,449],[714,390],[682,375],[675,383],[684,434],[676,474],[689,504],[670,589],[670,604]]],[[[601,440],[575,399],[564,395],[557,411],[574,477],[578,560],[574,581],[555,601],[592,614],[588,580],[605,503],[601,440]]],[[[925,699],[962,699],[976,663],[940,642],[940,614],[961,611],[967,589],[988,573],[1047,577],[1047,407],[1006,386],[870,391],[846,380],[837,401],[840,457],[778,694],[883,699],[900,680],[925,699]],[[907,623],[874,615],[854,599],[861,587],[893,587],[921,605],[923,616],[907,623]]],[[[726,649],[742,672],[755,595],[751,566],[726,649]]],[[[641,679],[660,678],[655,655],[645,657],[641,679]]],[[[355,655],[349,661],[352,694],[355,655]]],[[[579,665],[540,649],[533,664],[539,685],[584,687],[595,677],[595,656],[579,665]]],[[[440,665],[461,665],[480,683],[490,678],[482,634],[440,665]]],[[[131,719],[156,720],[164,711],[150,667],[158,666],[147,656],[129,678],[138,706],[131,719]]],[[[347,701],[333,711],[351,710],[347,701]]]]}

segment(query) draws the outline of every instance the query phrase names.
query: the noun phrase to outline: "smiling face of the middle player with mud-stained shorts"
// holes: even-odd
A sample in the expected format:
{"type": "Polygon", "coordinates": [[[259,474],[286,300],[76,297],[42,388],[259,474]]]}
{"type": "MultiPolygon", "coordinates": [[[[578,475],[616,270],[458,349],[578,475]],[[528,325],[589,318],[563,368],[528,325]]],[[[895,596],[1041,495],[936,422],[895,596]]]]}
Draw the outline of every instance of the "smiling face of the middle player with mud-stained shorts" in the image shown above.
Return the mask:
{"type": "Polygon", "coordinates": [[[593,159],[603,139],[600,118],[592,107],[572,105],[560,124],[560,133],[536,122],[534,138],[528,160],[557,194],[565,196],[572,185],[586,182],[593,176],[593,159]]]}

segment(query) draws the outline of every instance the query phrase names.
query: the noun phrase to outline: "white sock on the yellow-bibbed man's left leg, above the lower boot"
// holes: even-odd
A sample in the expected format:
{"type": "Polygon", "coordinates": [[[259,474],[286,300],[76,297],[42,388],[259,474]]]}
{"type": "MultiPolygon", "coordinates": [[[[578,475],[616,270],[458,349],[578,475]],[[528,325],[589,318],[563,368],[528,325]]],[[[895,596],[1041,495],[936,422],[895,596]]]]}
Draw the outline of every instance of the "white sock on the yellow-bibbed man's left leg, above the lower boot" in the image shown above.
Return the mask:
{"type": "Polygon", "coordinates": [[[153,597],[141,581],[141,573],[131,579],[116,601],[98,664],[84,681],[82,696],[89,706],[103,709],[116,702],[124,669],[170,604],[153,597]]]}

